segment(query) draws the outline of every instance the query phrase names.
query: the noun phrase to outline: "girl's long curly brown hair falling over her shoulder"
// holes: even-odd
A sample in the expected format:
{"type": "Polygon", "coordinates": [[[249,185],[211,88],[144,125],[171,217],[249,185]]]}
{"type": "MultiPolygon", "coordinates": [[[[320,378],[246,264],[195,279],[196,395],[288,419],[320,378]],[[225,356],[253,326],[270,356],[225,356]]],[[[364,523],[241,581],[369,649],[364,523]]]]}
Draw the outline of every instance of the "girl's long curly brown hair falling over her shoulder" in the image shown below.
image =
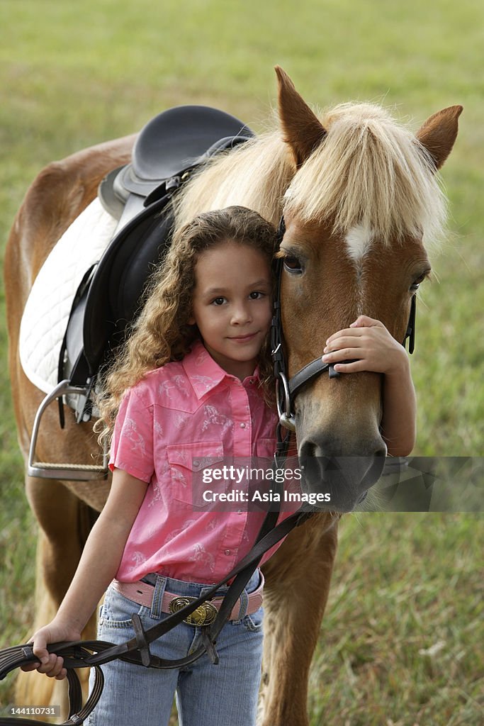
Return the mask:
{"type": "MultiPolygon", "coordinates": [[[[201,253],[230,240],[259,250],[271,264],[277,234],[273,224],[246,207],[231,206],[195,217],[174,235],[165,259],[152,275],[145,302],[131,333],[102,376],[97,396],[99,440],[110,440],[121,399],[150,370],[179,361],[200,338],[189,324],[195,285],[195,266],[201,253]]],[[[268,337],[259,354],[261,386],[268,404],[274,403],[268,337]]]]}

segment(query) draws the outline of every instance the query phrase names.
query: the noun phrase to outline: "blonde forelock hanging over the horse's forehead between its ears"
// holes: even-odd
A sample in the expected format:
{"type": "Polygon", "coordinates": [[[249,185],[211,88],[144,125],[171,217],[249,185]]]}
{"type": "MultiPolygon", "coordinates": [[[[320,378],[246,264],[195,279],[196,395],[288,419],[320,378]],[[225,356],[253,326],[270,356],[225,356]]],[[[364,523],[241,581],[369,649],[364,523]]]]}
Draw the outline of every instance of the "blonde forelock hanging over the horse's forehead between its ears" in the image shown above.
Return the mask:
{"type": "Polygon", "coordinates": [[[340,234],[361,225],[382,242],[440,237],[445,196],[409,129],[364,103],[339,105],[321,123],[327,136],[290,184],[288,210],[303,221],[332,219],[340,234]]]}

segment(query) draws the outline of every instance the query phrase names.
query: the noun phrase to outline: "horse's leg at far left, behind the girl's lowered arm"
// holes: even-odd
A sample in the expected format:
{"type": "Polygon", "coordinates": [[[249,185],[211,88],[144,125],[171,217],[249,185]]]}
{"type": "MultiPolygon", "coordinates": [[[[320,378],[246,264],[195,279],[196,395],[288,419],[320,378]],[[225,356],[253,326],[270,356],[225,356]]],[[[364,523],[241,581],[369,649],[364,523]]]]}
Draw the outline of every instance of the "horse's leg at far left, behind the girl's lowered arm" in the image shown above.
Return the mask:
{"type": "MultiPolygon", "coordinates": [[[[38,627],[54,617],[78,565],[83,545],[94,520],[94,513],[60,481],[27,478],[27,496],[41,531],[37,545],[36,617],[38,627]]],[[[96,617],[91,618],[83,638],[95,640],[96,617]]],[[[88,672],[81,671],[84,690],[88,672]]],[[[67,682],[43,674],[20,673],[16,684],[16,702],[25,706],[60,705],[67,715],[67,682]]]]}

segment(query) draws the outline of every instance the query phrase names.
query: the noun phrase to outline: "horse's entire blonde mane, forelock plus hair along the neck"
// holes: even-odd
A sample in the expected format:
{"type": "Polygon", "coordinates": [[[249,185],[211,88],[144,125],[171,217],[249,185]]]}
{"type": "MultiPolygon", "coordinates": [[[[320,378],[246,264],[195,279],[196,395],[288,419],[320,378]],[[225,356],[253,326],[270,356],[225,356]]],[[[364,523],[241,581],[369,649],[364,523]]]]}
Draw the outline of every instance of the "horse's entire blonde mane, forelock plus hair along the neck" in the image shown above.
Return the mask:
{"type": "Polygon", "coordinates": [[[332,220],[335,234],[361,225],[385,243],[439,239],[446,197],[406,126],[365,103],[339,105],[321,123],[327,135],[299,170],[280,131],[213,160],[180,195],[177,227],[200,211],[238,204],[274,224],[284,208],[303,222],[332,220]]]}

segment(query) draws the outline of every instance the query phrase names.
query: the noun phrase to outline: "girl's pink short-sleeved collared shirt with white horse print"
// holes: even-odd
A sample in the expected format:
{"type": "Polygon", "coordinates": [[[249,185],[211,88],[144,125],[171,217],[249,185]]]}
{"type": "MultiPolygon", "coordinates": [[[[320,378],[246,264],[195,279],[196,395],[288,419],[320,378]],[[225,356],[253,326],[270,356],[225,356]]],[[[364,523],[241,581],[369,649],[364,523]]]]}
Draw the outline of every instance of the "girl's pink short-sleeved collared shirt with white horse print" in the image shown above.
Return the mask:
{"type": "Polygon", "coordinates": [[[275,427],[257,372],[241,382],[200,342],[183,361],[149,372],[131,388],[115,423],[110,467],[149,486],[117,579],[134,582],[160,572],[188,582],[221,580],[253,546],[264,515],[247,513],[247,505],[194,510],[192,473],[200,457],[271,457],[275,427]]]}

